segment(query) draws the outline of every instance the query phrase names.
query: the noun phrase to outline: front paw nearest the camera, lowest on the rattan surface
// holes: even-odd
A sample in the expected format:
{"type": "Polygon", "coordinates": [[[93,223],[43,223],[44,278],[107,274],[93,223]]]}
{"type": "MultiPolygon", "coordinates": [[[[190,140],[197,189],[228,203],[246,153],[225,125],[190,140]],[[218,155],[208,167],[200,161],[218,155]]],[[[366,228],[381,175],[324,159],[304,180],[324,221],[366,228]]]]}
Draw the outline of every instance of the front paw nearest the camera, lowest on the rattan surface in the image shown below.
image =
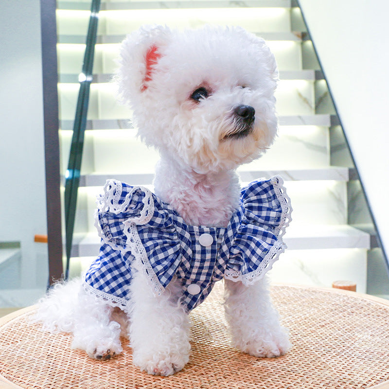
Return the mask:
{"type": "Polygon", "coordinates": [[[161,358],[134,355],[133,361],[134,365],[138,366],[141,371],[146,371],[148,374],[166,376],[182,370],[189,361],[189,355],[173,354],[161,358]]]}

